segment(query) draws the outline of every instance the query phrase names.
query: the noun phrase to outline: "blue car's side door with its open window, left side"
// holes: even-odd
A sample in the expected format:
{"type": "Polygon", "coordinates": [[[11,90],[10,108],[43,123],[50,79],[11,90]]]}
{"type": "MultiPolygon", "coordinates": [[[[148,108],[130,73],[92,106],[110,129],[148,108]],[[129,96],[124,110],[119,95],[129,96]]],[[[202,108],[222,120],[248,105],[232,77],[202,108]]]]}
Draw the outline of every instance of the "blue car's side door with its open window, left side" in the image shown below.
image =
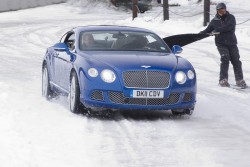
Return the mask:
{"type": "Polygon", "coordinates": [[[68,93],[70,83],[70,70],[75,57],[75,33],[69,32],[64,41],[66,49],[57,49],[55,53],[55,80],[57,86],[68,93]]]}

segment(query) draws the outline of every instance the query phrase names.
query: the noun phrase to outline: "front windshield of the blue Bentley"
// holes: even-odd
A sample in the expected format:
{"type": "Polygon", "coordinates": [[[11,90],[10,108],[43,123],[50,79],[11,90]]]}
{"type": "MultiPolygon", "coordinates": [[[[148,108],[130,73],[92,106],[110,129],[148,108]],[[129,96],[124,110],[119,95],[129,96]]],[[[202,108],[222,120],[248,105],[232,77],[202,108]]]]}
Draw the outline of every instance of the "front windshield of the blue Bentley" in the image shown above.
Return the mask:
{"type": "Polygon", "coordinates": [[[171,52],[155,34],[132,31],[81,32],[80,50],[171,52]]]}

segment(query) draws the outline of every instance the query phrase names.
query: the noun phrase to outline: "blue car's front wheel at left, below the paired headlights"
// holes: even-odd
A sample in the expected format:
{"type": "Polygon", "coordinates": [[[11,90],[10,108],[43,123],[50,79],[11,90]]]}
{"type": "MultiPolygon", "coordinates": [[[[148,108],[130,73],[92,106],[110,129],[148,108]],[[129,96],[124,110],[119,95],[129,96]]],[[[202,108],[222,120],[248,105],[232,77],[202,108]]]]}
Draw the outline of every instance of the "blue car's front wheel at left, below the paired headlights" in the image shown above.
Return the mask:
{"type": "Polygon", "coordinates": [[[80,86],[75,72],[72,73],[70,80],[69,104],[71,112],[80,112],[80,86]]]}

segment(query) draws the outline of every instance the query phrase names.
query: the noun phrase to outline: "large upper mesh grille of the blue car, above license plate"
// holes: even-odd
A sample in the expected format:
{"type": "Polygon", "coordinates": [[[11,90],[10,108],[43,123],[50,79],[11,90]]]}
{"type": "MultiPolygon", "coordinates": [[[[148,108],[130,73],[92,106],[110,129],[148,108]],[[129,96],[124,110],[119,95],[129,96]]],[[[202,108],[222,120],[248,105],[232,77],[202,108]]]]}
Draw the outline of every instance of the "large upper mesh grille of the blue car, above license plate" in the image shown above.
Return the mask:
{"type": "Polygon", "coordinates": [[[167,88],[170,74],[163,71],[127,71],[123,72],[123,81],[127,88],[167,88]]]}

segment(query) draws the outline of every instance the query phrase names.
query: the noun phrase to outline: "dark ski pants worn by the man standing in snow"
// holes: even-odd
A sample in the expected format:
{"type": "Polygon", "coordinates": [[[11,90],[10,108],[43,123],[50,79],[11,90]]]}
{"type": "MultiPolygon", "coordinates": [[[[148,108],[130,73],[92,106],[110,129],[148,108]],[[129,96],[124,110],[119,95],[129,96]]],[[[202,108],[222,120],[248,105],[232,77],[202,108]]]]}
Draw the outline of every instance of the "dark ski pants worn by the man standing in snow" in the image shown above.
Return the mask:
{"type": "Polygon", "coordinates": [[[233,65],[235,80],[242,80],[242,63],[237,45],[217,45],[217,49],[221,55],[220,80],[228,79],[229,62],[233,65]]]}

